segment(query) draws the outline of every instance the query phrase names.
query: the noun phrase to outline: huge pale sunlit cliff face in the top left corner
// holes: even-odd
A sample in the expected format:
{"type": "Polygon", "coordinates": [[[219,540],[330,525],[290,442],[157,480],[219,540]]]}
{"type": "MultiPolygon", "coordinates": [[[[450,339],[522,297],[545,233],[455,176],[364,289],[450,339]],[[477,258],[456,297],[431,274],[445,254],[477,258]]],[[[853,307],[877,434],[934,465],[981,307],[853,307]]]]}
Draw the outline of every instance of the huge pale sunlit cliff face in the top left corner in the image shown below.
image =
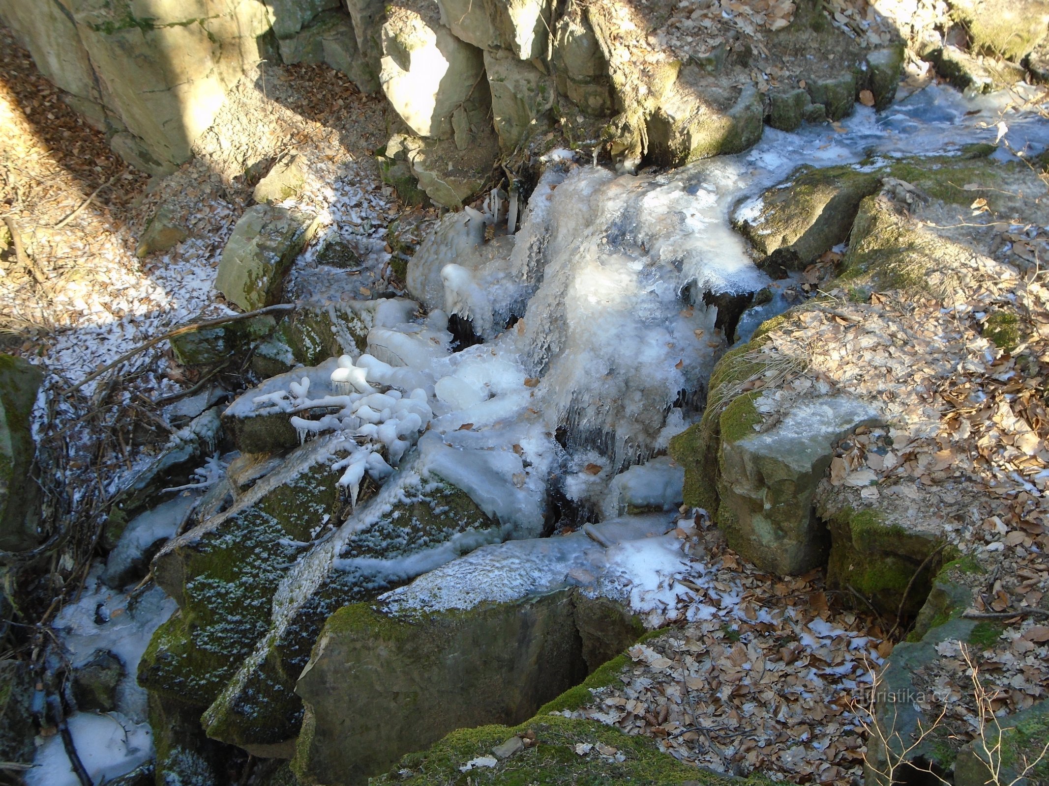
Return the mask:
{"type": "Polygon", "coordinates": [[[151,173],[189,159],[229,87],[267,57],[257,2],[5,0],[0,17],[113,149],[151,173]]]}

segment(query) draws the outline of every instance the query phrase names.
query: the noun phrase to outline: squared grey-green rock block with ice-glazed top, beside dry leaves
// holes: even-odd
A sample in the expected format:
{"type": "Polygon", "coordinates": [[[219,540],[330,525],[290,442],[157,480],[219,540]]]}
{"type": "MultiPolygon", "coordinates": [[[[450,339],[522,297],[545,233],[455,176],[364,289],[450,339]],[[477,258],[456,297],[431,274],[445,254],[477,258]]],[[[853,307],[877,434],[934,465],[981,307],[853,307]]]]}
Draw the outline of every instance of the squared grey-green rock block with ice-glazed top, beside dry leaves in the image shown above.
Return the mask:
{"type": "Polygon", "coordinates": [[[763,434],[723,430],[719,523],[729,545],[780,575],[822,565],[830,543],[813,507],[816,484],[838,440],[876,421],[870,406],[828,396],[799,402],[763,434]]]}

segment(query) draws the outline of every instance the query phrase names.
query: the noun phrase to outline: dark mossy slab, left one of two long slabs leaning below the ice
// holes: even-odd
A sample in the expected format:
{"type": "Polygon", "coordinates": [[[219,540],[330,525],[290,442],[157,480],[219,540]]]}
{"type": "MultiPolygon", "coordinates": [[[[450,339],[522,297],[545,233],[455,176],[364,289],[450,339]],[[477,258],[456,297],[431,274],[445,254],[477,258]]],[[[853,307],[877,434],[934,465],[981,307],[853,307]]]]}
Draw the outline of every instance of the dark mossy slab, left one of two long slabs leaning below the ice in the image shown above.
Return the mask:
{"type": "Polygon", "coordinates": [[[265,634],[286,566],[308,549],[343,502],[330,438],[303,445],[227,510],[169,541],[153,560],[156,583],[178,603],[157,629],[138,682],[207,706],[265,634]]]}

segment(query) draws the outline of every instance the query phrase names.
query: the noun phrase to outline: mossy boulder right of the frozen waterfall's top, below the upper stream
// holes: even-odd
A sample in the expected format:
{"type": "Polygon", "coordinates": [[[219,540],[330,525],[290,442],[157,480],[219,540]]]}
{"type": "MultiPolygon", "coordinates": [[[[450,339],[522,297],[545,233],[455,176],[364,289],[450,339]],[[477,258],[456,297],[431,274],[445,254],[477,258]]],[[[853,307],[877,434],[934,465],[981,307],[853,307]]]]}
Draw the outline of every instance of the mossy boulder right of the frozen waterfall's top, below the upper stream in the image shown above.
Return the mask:
{"type": "Polygon", "coordinates": [[[801,167],[737,209],[735,226],[766,256],[763,268],[800,269],[849,238],[860,201],[880,184],[877,172],[801,167]]]}

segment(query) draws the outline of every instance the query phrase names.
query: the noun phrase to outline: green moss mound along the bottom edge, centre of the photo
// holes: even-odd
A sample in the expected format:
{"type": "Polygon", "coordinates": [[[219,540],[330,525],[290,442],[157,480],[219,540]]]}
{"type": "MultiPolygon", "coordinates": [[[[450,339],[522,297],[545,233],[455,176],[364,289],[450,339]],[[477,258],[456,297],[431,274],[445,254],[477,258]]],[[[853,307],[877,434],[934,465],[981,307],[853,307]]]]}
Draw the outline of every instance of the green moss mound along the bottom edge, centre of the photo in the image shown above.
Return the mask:
{"type": "Polygon", "coordinates": [[[449,786],[669,786],[686,782],[727,786],[738,784],[741,780],[721,778],[683,764],[658,750],[648,738],[630,737],[595,721],[556,715],[537,715],[514,727],[492,725],[453,732],[429,750],[406,756],[391,772],[371,781],[372,784],[440,783],[449,786]],[[535,735],[535,746],[492,768],[459,770],[464,763],[479,756],[490,756],[493,747],[527,732],[535,735]],[[598,743],[616,748],[625,757],[624,761],[616,762],[596,750],[586,755],[576,752],[576,745],[598,743]]]}

